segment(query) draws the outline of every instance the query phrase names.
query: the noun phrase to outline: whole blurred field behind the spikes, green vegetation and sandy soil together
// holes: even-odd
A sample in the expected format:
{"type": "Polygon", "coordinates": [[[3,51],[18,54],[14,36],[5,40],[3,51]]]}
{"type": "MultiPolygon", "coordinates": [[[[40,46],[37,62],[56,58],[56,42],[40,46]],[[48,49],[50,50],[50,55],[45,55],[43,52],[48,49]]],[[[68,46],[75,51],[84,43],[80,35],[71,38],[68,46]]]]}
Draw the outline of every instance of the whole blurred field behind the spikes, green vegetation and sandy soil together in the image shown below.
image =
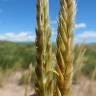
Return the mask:
{"type": "MultiPolygon", "coordinates": [[[[96,68],[96,44],[82,45],[86,48],[84,66],[80,70],[81,76],[78,78],[78,72],[74,75],[73,94],[77,96],[95,96],[96,82],[92,79],[92,74],[96,68]],[[79,82],[78,82],[79,80],[79,82]],[[75,81],[75,82],[74,82],[75,81]],[[82,87],[85,86],[85,87],[82,87]],[[90,87],[91,86],[91,87],[90,87]],[[87,95],[90,92],[91,95],[87,95]],[[92,95],[93,94],[93,95],[92,95]]],[[[36,64],[36,50],[34,43],[13,43],[3,41],[0,42],[0,94],[2,96],[24,96],[25,93],[30,94],[34,91],[33,80],[34,70],[32,70],[31,81],[29,82],[30,69],[29,65],[36,64]],[[14,71],[15,69],[15,71],[14,71]],[[23,69],[23,71],[22,71],[23,69]],[[28,77],[28,78],[27,78],[28,77]],[[31,86],[31,89],[30,89],[31,86]],[[26,88],[29,89],[26,89],[26,88]]],[[[75,57],[80,50],[78,45],[75,46],[75,57]]],[[[53,44],[53,54],[56,53],[56,44],[53,44]]],[[[76,58],[75,58],[76,59],[76,58]]],[[[54,59],[55,60],[55,59],[54,59]]],[[[56,60],[55,60],[56,63],[56,60]]],[[[75,68],[74,68],[75,70],[75,68]]],[[[95,74],[96,78],[96,74],[95,74]]]]}

